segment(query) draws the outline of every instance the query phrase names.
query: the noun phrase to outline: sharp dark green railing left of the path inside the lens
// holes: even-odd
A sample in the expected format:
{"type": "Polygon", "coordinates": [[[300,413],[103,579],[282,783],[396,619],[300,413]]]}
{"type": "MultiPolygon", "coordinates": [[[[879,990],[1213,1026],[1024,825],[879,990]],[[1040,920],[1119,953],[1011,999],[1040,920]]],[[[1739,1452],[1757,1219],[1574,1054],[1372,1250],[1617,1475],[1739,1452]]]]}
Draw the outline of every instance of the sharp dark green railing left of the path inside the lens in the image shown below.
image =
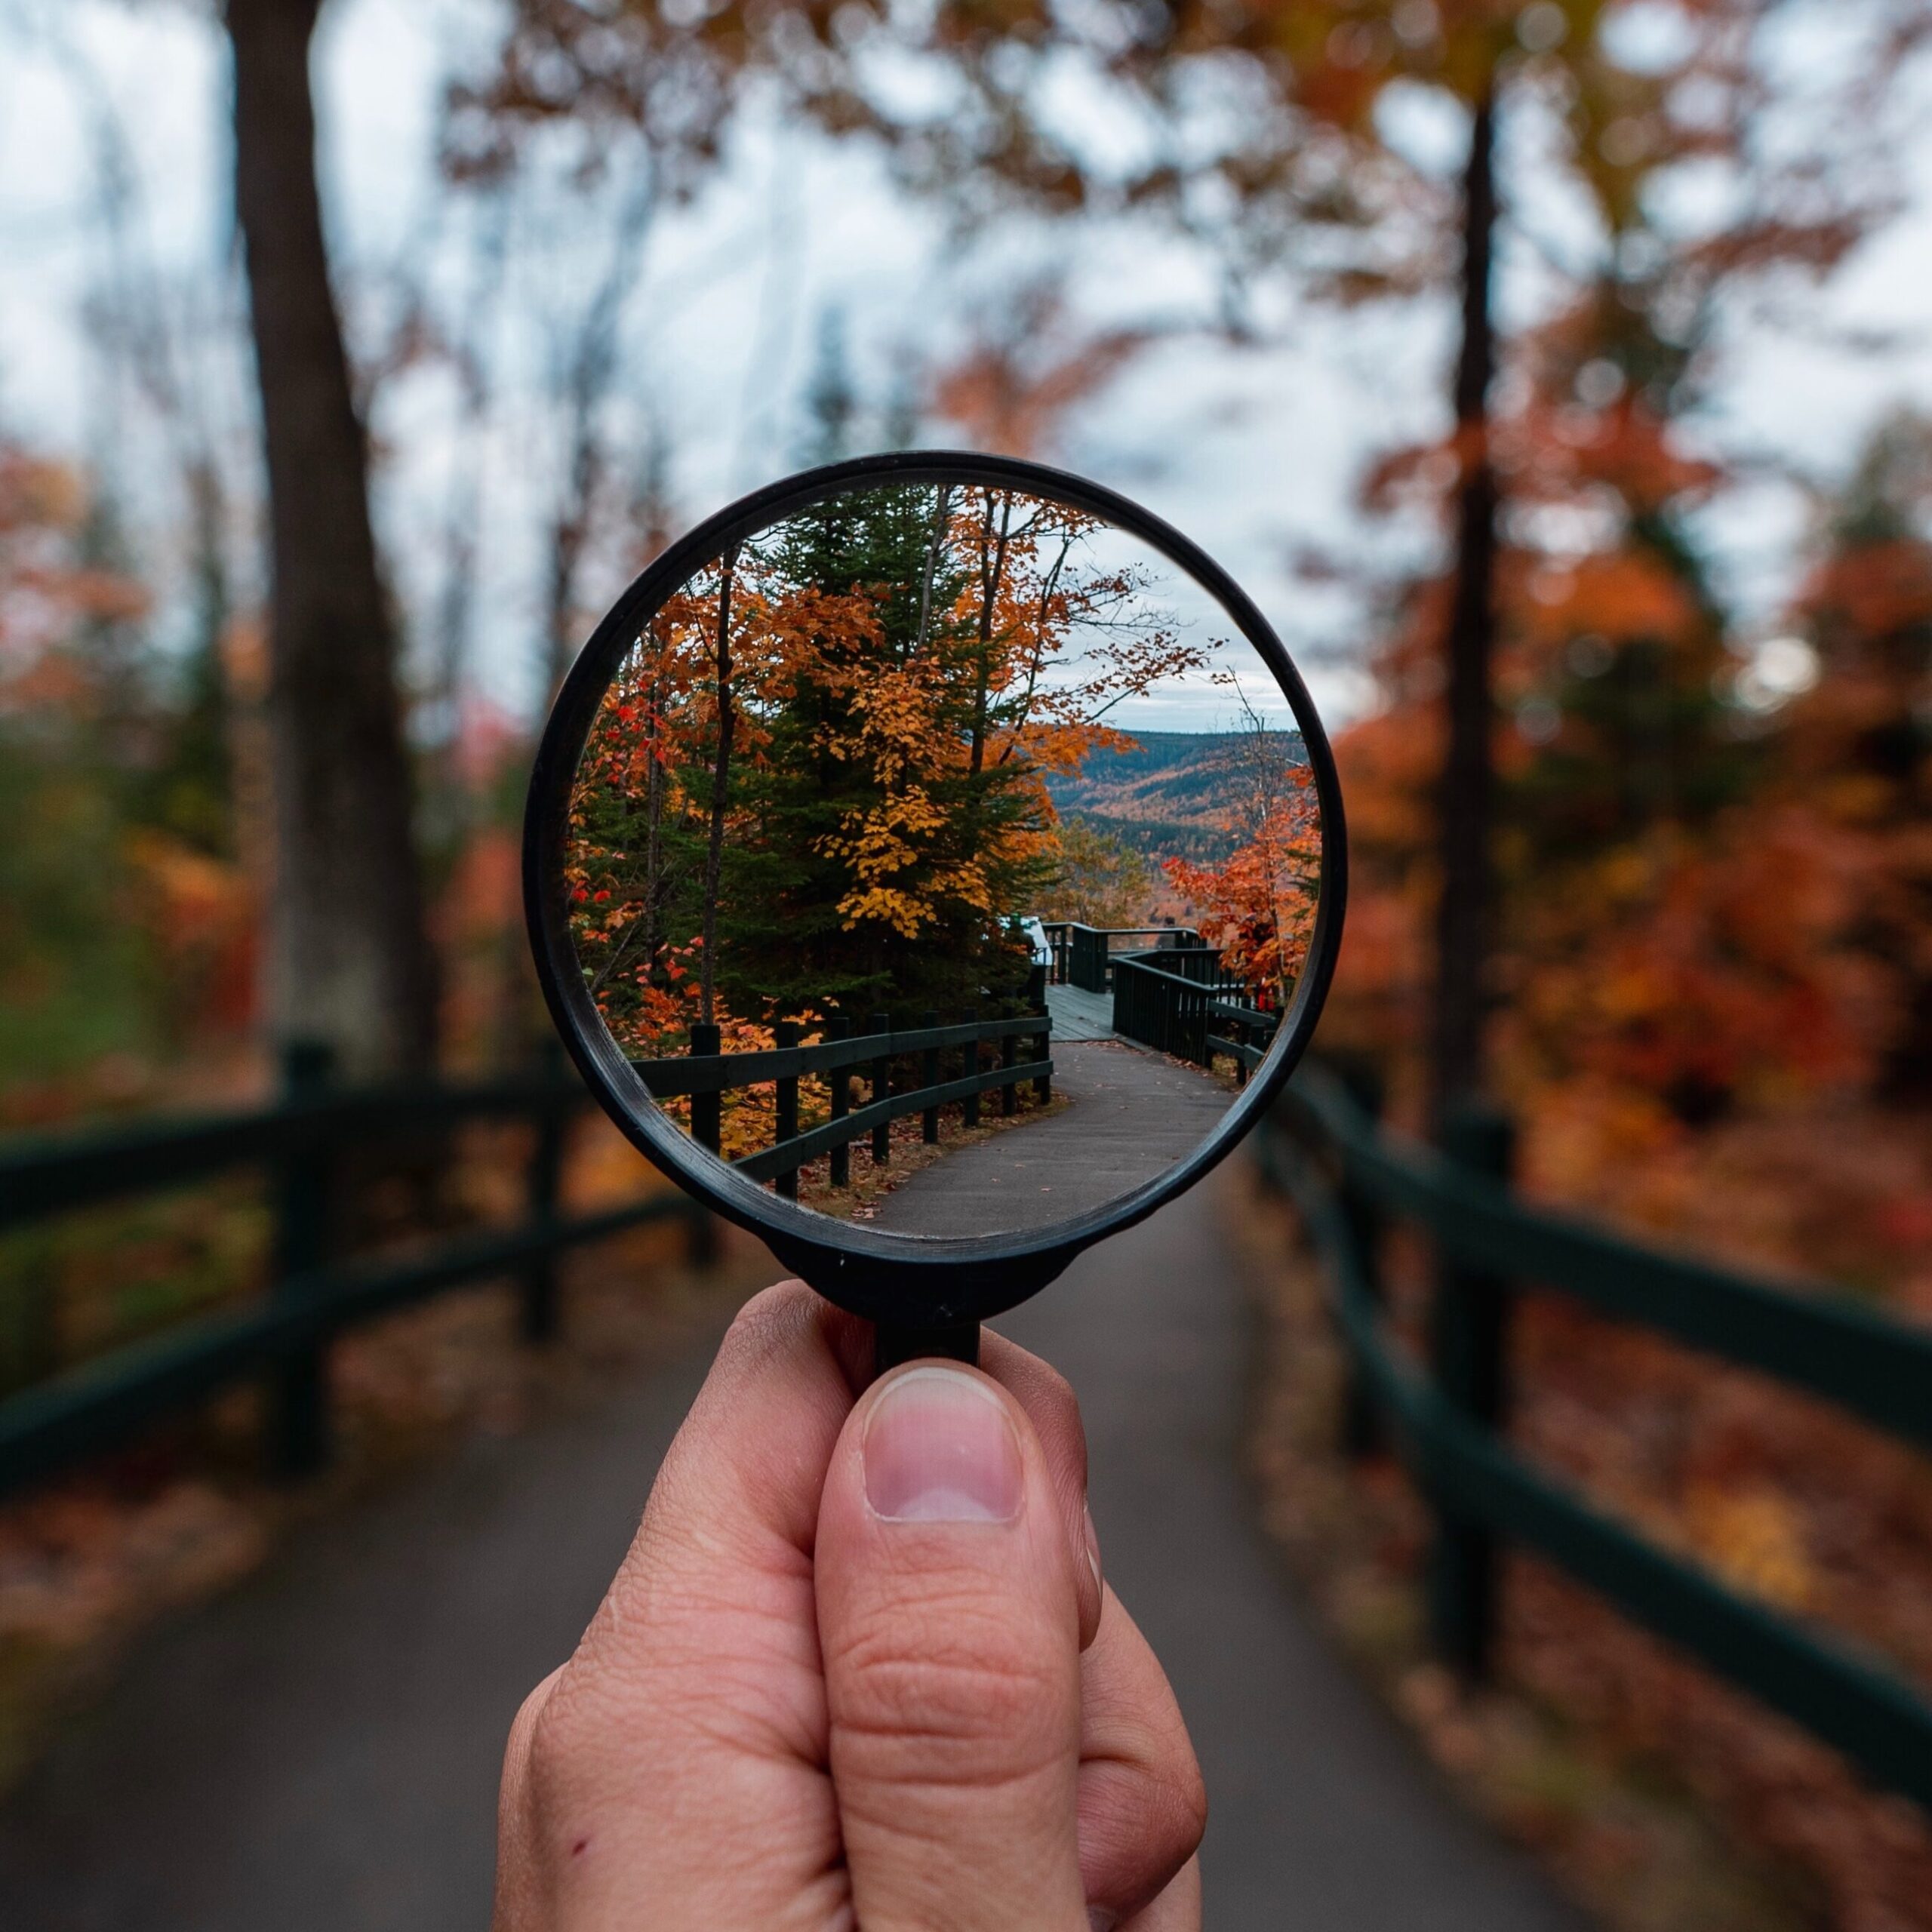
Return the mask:
{"type": "Polygon", "coordinates": [[[887,1165],[893,1122],[908,1115],[922,1115],[923,1140],[937,1144],[943,1107],[956,1105],[962,1124],[978,1126],[981,1094],[997,1092],[1003,1115],[1016,1111],[1018,1090],[1028,1080],[1041,1101],[1053,1097],[1053,1020],[1045,1012],[997,1020],[966,1014],[951,1024],[927,1012],[918,1026],[895,1026],[889,1012],[875,1012],[864,1034],[854,1034],[850,1018],[838,1016],[825,1022],[825,1037],[811,1045],[800,1045],[798,1032],[796,1022],[781,1020],[773,1047],[721,1053],[719,1028],[697,1024],[686,1055],[632,1065],[657,1099],[690,1095],[692,1136],[713,1153],[723,1140],[723,1095],[771,1086],[777,1097],[773,1144],[738,1155],[732,1165],[752,1180],[773,1182],[779,1194],[790,1198],[798,1196],[800,1169],[819,1159],[827,1161],[835,1188],[848,1186],[854,1140],[869,1136],[873,1163],[887,1165]],[[1024,1059],[1022,1045],[1028,1049],[1024,1059]],[[995,1066],[983,1065],[987,1047],[999,1053],[995,1066]],[[900,1078],[896,1092],[895,1063],[918,1066],[912,1084],[900,1078]],[[850,1070],[862,1070],[869,1084],[869,1099],[862,1107],[850,1103],[850,1070]],[[827,1074],[844,1074],[827,1080],[831,1117],[800,1130],[798,1082],[827,1074]]]}

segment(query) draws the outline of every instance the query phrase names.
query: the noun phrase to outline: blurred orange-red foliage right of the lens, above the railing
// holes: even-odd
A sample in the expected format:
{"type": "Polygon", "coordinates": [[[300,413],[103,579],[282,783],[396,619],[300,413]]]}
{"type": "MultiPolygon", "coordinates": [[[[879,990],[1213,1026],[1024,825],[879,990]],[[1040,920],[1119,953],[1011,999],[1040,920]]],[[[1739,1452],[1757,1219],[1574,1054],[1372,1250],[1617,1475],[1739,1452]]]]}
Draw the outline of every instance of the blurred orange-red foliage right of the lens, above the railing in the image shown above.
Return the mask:
{"type": "MultiPolygon", "coordinates": [[[[1741,636],[1698,545],[1725,477],[1685,454],[1696,357],[1660,330],[1667,286],[1607,282],[1513,346],[1493,425],[1509,508],[1492,991],[1534,1180],[1683,1229],[1690,1202],[1662,1171],[1700,1134],[1903,1107],[1922,1150],[1932,506],[1922,456],[1903,458],[1922,429],[1888,427],[1818,504],[1787,630],[1741,636]]],[[[1366,506],[1428,506],[1455,462],[1453,444],[1399,452],[1366,506]]],[[[1329,1026],[1412,1092],[1447,585],[1379,593],[1385,703],[1339,748],[1356,893],[1329,1026]]],[[[1830,1258],[1745,1219],[1723,1238],[1911,1281],[1926,1231],[1899,1180],[1874,1173],[1855,1264],[1849,1229],[1830,1258]]]]}

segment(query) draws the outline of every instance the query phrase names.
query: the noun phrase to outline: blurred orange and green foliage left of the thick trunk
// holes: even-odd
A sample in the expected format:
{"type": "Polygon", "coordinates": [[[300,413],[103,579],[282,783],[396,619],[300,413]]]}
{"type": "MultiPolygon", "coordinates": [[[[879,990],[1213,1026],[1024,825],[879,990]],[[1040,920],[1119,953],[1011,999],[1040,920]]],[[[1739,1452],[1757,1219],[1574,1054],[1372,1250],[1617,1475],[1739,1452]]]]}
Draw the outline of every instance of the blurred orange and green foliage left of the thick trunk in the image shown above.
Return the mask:
{"type": "Polygon", "coordinates": [[[0,444],[0,1113],[131,1097],[251,1005],[220,638],[160,659],[110,504],[0,444]]]}

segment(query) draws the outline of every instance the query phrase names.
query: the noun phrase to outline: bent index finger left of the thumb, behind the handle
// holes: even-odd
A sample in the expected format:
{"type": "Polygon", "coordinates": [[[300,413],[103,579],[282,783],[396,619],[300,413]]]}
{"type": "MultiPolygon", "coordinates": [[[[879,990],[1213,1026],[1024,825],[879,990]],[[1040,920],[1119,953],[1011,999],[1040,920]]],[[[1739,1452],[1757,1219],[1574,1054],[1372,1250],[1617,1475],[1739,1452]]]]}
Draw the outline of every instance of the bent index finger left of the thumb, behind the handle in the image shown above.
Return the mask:
{"type": "Polygon", "coordinates": [[[609,1596],[512,1739],[504,1870],[518,1847],[551,1888],[549,1917],[518,1924],[616,1924],[643,1899],[711,1924],[838,1909],[811,1542],[850,1403],[815,1294],[748,1304],[609,1596]]]}

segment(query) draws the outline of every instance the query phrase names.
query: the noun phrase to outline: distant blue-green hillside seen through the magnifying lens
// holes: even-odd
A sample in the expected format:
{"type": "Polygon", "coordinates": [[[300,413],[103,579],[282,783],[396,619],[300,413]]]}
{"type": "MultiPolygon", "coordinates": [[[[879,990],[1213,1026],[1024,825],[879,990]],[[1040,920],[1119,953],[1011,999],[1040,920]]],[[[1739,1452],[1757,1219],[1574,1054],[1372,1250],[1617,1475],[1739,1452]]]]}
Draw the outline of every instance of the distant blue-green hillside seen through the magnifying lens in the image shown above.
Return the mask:
{"type": "MultiPolygon", "coordinates": [[[[1150,858],[1223,860],[1231,788],[1254,757],[1248,732],[1134,732],[1132,752],[1095,752],[1074,779],[1051,779],[1063,817],[1088,819],[1150,858]]],[[[1283,763],[1306,765],[1302,734],[1269,732],[1283,763]]]]}

